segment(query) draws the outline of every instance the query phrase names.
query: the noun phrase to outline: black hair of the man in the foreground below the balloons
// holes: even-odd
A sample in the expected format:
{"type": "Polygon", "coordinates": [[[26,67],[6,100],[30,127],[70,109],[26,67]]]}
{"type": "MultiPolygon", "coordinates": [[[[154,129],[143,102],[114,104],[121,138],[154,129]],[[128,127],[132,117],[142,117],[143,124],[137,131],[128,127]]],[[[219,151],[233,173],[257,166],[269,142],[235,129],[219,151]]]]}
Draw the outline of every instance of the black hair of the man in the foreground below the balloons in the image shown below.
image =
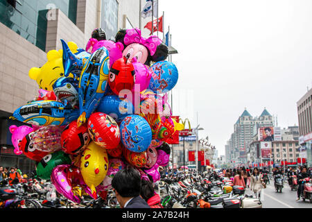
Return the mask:
{"type": "Polygon", "coordinates": [[[122,169],[112,179],[112,187],[122,197],[139,196],[141,190],[141,175],[133,167],[122,169]]]}

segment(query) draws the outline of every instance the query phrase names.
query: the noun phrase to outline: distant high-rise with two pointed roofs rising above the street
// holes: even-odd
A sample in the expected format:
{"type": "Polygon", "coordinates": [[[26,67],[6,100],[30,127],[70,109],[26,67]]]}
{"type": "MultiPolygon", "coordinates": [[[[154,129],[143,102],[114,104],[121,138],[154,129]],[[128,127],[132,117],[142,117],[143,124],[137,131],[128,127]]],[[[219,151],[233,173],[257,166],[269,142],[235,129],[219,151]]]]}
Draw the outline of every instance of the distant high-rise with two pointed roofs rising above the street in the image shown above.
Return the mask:
{"type": "Polygon", "coordinates": [[[261,127],[274,126],[272,115],[264,108],[259,117],[252,117],[248,110],[243,111],[234,124],[234,133],[228,141],[229,158],[232,164],[247,164],[250,142],[261,127]]]}

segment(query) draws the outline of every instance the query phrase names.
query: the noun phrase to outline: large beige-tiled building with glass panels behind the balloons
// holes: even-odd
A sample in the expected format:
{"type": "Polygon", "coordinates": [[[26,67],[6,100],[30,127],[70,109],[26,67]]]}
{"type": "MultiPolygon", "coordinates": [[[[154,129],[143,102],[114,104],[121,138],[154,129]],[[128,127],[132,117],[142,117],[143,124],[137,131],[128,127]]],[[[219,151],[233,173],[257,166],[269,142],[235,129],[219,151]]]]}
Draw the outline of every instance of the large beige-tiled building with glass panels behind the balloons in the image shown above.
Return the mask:
{"type": "MultiPolygon", "coordinates": [[[[141,0],[141,3],[144,3],[141,0]]],[[[46,53],[62,49],[60,39],[85,48],[92,31],[104,28],[107,39],[119,28],[139,27],[137,0],[1,0],[0,1],[0,163],[34,169],[34,162],[13,153],[8,119],[37,95],[38,85],[28,76],[42,67],[46,53]]],[[[148,30],[143,33],[148,33],[148,30]]],[[[25,124],[22,124],[25,125],[25,124]]]]}

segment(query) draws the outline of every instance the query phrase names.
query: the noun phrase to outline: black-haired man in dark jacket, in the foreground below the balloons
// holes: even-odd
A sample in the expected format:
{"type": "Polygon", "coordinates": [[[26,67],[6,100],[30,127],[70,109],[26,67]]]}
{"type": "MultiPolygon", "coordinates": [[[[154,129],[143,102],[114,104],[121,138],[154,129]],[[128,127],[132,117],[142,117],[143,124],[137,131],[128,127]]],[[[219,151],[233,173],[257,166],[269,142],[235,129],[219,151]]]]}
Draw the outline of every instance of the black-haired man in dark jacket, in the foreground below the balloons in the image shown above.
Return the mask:
{"type": "Polygon", "coordinates": [[[141,198],[141,175],[133,167],[118,171],[112,179],[112,187],[121,208],[150,208],[141,198]]]}

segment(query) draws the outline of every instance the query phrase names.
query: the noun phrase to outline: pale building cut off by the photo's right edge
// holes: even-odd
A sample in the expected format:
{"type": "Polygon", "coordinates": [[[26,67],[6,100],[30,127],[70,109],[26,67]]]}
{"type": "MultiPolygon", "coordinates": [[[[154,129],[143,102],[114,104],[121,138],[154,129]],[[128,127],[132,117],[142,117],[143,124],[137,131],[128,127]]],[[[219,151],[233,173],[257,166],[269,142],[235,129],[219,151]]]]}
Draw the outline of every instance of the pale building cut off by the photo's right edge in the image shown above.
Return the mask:
{"type": "Polygon", "coordinates": [[[297,101],[299,143],[308,166],[312,166],[312,88],[297,101]]]}

